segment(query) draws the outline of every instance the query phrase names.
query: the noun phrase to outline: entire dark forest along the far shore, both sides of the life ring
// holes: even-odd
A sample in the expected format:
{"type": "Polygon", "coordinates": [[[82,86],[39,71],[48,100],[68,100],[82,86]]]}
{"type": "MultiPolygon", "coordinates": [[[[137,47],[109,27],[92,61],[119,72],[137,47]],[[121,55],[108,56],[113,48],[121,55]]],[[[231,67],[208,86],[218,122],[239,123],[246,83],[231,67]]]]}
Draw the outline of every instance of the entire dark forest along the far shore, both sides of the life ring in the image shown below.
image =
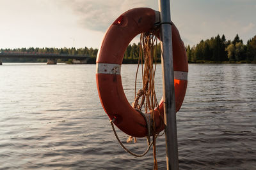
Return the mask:
{"type": "MultiPolygon", "coordinates": [[[[97,48],[14,48],[1,49],[1,52],[21,52],[21,53],[56,53],[69,55],[88,55],[88,63],[94,64],[97,57],[97,48]]],[[[156,46],[157,62],[161,62],[161,47],[156,46]]],[[[224,34],[220,37],[218,34],[210,39],[201,40],[200,43],[193,46],[186,46],[186,52],[189,63],[256,63],[256,36],[248,39],[244,44],[243,40],[236,34],[235,38],[227,40],[224,34]]],[[[127,46],[124,54],[124,64],[138,63],[140,53],[140,43],[133,43],[127,46]]],[[[31,58],[6,58],[3,62],[46,62],[46,59],[31,58]]],[[[68,62],[65,59],[59,59],[58,62],[68,62]]]]}

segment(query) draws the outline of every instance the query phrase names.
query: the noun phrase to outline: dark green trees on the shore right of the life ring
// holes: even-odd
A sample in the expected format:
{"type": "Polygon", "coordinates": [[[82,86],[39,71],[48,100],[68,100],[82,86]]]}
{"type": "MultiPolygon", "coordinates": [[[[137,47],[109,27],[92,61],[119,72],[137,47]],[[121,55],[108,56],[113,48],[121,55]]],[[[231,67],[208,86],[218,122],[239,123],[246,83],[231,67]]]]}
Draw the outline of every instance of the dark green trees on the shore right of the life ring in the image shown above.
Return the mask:
{"type": "Polygon", "coordinates": [[[186,51],[190,63],[256,63],[256,36],[244,45],[238,34],[233,41],[218,35],[192,48],[188,45],[186,51]]]}

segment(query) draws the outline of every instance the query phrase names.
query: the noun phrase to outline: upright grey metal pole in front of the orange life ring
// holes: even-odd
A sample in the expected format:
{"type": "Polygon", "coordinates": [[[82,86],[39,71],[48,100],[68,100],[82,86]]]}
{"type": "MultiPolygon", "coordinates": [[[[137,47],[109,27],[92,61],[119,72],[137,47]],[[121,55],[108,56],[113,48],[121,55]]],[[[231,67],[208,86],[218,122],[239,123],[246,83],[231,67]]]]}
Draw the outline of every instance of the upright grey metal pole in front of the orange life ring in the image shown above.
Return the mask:
{"type": "Polygon", "coordinates": [[[164,124],[167,169],[179,169],[175,92],[173,80],[172,25],[170,0],[159,0],[161,18],[161,61],[163,73],[164,124]]]}

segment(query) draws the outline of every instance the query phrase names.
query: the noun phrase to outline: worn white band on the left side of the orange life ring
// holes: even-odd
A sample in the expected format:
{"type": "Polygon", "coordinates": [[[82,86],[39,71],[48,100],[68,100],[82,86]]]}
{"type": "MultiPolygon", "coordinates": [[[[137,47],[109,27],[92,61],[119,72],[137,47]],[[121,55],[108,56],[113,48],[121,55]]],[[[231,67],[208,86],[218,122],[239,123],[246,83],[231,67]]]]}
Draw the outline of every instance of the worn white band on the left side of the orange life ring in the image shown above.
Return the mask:
{"type": "Polygon", "coordinates": [[[121,65],[109,63],[97,63],[97,74],[121,74],[121,65]]]}

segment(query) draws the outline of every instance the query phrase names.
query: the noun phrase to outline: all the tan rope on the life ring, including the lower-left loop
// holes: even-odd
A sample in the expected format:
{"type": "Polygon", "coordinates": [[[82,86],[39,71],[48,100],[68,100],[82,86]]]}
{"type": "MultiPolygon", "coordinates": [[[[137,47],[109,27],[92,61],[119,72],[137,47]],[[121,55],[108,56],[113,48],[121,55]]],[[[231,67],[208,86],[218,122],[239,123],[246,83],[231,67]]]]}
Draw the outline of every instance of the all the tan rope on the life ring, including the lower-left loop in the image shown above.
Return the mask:
{"type": "MultiPolygon", "coordinates": [[[[157,136],[162,136],[164,134],[164,132],[161,135],[159,135],[159,133],[156,133],[156,125],[154,121],[154,112],[155,112],[154,110],[155,108],[159,107],[159,104],[157,102],[157,97],[156,97],[156,91],[155,91],[155,83],[154,83],[155,74],[156,74],[156,64],[157,64],[156,46],[157,46],[157,38],[156,36],[154,36],[154,34],[152,34],[151,32],[144,32],[141,34],[140,55],[139,55],[138,67],[136,71],[134,103],[132,103],[132,107],[135,110],[137,110],[145,118],[145,122],[147,124],[147,131],[148,131],[147,150],[142,154],[136,154],[128,150],[123,145],[123,143],[118,138],[118,135],[116,134],[115,127],[113,124],[114,120],[113,121],[110,120],[110,124],[116,136],[116,139],[118,140],[122,148],[124,148],[124,150],[130,153],[131,155],[134,155],[135,157],[143,157],[148,152],[150,147],[153,145],[154,170],[157,169],[156,138],[157,136]],[[143,67],[143,63],[144,63],[144,67],[143,67]],[[138,71],[139,71],[140,65],[141,65],[141,74],[143,79],[143,87],[142,89],[138,90],[138,92],[136,92],[137,77],[138,77],[138,71]],[[145,111],[145,113],[141,111],[142,109],[145,111]],[[150,136],[152,136],[151,143],[150,143],[150,136]]],[[[136,138],[132,136],[129,136],[129,138],[127,139],[127,143],[131,142],[132,139],[136,143],[136,138]]]]}

